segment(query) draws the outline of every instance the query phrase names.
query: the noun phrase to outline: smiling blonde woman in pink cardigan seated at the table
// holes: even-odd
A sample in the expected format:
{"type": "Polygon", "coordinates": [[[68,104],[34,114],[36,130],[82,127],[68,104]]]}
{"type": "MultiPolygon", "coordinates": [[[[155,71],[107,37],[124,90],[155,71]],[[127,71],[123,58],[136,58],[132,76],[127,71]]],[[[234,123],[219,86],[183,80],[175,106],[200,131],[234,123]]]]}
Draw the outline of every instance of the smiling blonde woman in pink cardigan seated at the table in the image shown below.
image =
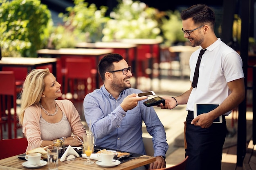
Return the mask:
{"type": "Polygon", "coordinates": [[[61,84],[49,69],[32,70],[21,92],[21,112],[18,114],[27,150],[53,144],[54,139],[66,137],[65,146],[79,146],[86,130],[80,115],[69,100],[61,97],[61,84]],[[73,135],[74,136],[73,136],[73,135]]]}

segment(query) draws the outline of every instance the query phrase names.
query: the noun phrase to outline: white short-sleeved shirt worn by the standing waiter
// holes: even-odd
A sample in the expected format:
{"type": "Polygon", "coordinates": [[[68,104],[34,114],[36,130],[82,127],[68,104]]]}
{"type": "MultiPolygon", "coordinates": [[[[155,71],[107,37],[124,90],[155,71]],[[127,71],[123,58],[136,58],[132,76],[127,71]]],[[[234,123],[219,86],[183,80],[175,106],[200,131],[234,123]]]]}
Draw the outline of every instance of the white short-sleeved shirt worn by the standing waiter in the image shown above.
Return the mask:
{"type": "MultiPolygon", "coordinates": [[[[193,81],[195,65],[202,47],[192,53],[190,80],[193,81]]],[[[227,82],[244,77],[240,55],[223,43],[220,38],[204,52],[199,68],[198,85],[189,96],[186,110],[193,111],[194,103],[221,104],[231,93],[227,82]]],[[[229,115],[231,110],[225,115],[229,115]]]]}

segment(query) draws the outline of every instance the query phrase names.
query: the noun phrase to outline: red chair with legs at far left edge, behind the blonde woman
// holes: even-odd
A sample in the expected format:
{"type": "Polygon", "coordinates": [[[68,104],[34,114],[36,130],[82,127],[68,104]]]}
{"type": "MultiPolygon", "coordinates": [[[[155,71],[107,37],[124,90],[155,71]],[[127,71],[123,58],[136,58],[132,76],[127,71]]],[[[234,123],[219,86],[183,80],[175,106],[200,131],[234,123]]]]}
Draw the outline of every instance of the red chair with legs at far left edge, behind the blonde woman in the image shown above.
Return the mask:
{"type": "MultiPolygon", "coordinates": [[[[0,79],[4,80],[0,83],[0,111],[1,117],[5,117],[8,124],[8,138],[12,138],[12,124],[14,131],[14,138],[17,138],[17,128],[20,128],[19,122],[17,119],[16,113],[16,84],[15,84],[15,75],[13,71],[0,71],[0,79]],[[7,100],[6,100],[7,99],[7,100]],[[2,101],[1,101],[2,100],[2,101]],[[11,108],[13,107],[14,113],[11,114],[11,108]],[[7,110],[8,114],[6,115],[5,111],[7,110]]],[[[2,134],[2,131],[1,131],[2,134]]]]}

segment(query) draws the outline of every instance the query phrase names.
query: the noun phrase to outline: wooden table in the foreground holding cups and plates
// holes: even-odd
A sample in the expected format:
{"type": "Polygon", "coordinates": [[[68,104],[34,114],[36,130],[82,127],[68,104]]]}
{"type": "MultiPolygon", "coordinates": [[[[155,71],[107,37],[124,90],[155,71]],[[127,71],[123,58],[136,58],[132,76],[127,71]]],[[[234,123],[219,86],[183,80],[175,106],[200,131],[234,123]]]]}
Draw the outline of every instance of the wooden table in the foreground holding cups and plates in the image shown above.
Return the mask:
{"type": "MultiPolygon", "coordinates": [[[[134,168],[147,165],[156,161],[155,157],[150,157],[148,155],[143,155],[141,157],[149,157],[148,159],[132,159],[130,161],[119,164],[118,166],[111,168],[104,168],[98,166],[94,161],[91,165],[85,165],[84,162],[87,160],[86,158],[78,157],[72,161],[58,161],[58,170],[132,170],[134,168]]],[[[29,170],[22,166],[22,163],[25,160],[16,158],[16,156],[1,159],[0,160],[0,170],[29,170]]],[[[45,165],[41,168],[37,168],[38,170],[48,170],[48,166],[45,165]]]]}

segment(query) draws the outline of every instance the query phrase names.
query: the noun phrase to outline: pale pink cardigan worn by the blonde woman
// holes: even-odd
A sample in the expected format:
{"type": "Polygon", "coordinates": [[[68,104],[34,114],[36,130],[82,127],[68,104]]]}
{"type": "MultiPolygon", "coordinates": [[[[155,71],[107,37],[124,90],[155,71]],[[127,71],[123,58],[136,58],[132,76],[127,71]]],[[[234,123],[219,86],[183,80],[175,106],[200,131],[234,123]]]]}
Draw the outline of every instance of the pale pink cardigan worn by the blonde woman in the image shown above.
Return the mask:
{"type": "MultiPolygon", "coordinates": [[[[86,130],[81,122],[80,115],[76,110],[74,104],[69,100],[56,100],[56,103],[65,113],[67,120],[70,122],[72,133],[74,135],[86,134],[86,130]]],[[[24,113],[22,132],[27,137],[27,150],[38,148],[42,144],[41,130],[40,130],[40,111],[39,104],[29,106],[24,113]]]]}

